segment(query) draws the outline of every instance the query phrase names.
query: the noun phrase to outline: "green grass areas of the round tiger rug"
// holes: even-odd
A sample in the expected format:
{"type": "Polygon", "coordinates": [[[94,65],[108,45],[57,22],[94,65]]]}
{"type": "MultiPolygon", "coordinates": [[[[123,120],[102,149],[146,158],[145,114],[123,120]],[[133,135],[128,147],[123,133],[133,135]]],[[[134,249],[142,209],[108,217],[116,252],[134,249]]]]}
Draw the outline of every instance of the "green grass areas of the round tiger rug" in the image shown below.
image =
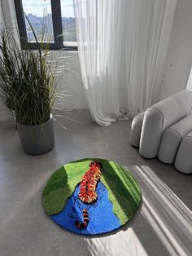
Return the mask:
{"type": "Polygon", "coordinates": [[[122,225],[129,222],[142,200],[139,185],[129,170],[114,161],[98,158],[72,161],[51,175],[42,194],[42,205],[46,214],[58,214],[63,210],[76,185],[89,169],[90,161],[103,163],[101,182],[107,188],[113,211],[122,225]]]}

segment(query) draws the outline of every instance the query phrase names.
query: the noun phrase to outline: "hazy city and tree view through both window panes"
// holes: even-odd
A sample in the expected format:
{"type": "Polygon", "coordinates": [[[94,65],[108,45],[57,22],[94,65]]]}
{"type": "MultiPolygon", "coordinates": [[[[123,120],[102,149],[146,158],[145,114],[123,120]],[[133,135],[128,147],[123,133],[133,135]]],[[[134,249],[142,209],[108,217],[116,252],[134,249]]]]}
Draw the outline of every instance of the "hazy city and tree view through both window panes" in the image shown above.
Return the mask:
{"type": "MultiPolygon", "coordinates": [[[[46,18],[46,40],[54,42],[52,13],[50,0],[23,0],[23,7],[33,25],[37,39],[41,40],[43,17],[46,18]]],[[[60,0],[63,41],[66,46],[76,46],[76,23],[72,0],[60,0]]],[[[33,32],[25,19],[28,42],[34,42],[33,32]]]]}

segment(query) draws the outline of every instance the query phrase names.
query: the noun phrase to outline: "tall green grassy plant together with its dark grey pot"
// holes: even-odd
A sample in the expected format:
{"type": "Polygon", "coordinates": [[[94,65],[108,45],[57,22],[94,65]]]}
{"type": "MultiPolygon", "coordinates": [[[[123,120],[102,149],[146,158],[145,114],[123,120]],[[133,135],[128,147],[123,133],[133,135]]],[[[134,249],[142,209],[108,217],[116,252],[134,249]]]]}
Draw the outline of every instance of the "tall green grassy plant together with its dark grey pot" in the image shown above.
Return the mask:
{"type": "MultiPolygon", "coordinates": [[[[42,154],[55,144],[52,112],[59,95],[57,72],[48,58],[49,42],[42,43],[45,33],[37,51],[22,50],[13,34],[11,29],[0,30],[0,96],[15,117],[24,151],[42,154]]],[[[34,30],[33,35],[37,41],[34,30]]]]}

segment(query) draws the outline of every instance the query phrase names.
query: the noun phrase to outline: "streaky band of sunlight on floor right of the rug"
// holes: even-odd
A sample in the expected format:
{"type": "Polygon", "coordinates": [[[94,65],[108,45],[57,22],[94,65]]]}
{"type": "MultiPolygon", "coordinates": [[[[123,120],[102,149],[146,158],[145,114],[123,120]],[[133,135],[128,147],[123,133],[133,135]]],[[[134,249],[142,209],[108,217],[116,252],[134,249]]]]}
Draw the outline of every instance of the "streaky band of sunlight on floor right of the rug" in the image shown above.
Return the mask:
{"type": "Polygon", "coordinates": [[[172,255],[188,255],[192,243],[192,213],[148,166],[133,166],[142,186],[142,215],[172,255]]]}

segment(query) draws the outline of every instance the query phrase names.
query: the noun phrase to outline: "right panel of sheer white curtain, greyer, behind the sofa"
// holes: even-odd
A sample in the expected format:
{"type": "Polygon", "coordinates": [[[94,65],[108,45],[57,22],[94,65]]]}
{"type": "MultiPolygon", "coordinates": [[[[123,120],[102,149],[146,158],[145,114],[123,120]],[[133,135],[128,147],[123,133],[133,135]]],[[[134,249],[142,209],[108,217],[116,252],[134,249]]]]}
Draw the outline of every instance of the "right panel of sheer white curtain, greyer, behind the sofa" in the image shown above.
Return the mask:
{"type": "Polygon", "coordinates": [[[126,2],[126,84],[130,116],[159,100],[177,1],[126,2]]]}

